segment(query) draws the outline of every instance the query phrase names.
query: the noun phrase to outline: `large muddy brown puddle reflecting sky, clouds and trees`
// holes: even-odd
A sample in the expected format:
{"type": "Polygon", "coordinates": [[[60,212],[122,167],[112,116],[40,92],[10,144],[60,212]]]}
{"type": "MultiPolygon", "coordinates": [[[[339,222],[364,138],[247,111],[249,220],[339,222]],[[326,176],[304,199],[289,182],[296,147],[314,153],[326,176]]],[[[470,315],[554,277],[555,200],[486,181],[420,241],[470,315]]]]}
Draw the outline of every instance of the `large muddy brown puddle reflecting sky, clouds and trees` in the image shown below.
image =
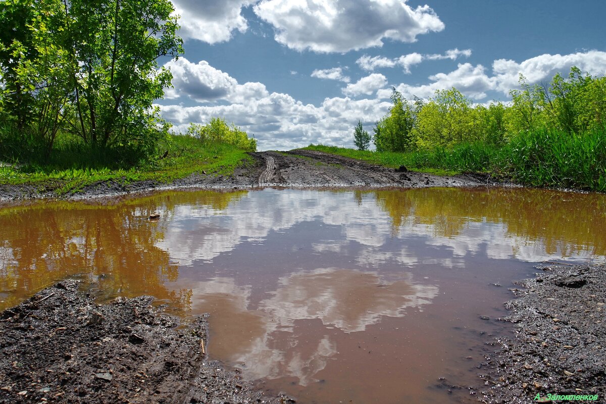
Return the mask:
{"type": "Polygon", "coordinates": [[[210,313],[212,359],[302,403],[454,402],[438,378],[479,386],[511,281],[604,262],[604,228],[604,195],[523,189],[35,202],[0,208],[0,309],[78,277],[210,313]]]}

